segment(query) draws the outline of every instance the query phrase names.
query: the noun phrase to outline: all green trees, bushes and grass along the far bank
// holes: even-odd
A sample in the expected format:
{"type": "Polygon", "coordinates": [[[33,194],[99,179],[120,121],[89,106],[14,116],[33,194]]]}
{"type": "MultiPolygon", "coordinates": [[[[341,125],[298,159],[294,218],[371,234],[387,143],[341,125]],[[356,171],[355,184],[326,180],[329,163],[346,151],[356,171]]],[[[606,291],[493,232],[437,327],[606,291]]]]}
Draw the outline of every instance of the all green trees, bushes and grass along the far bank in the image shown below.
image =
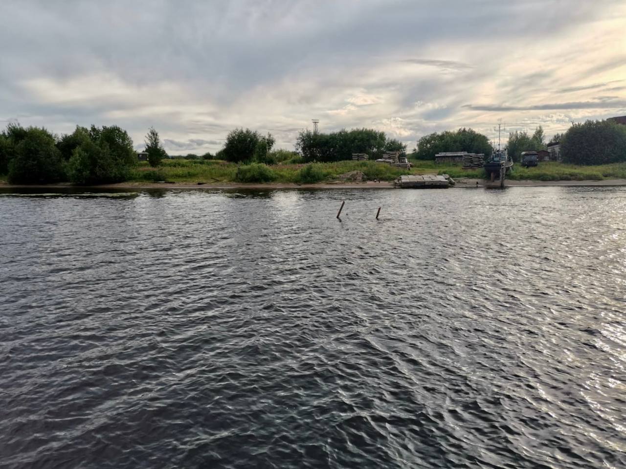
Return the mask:
{"type": "MultiPolygon", "coordinates": [[[[530,168],[515,165],[507,177],[508,183],[580,185],[602,181],[618,184],[626,180],[626,126],[612,121],[587,121],[556,137],[565,152],[564,162],[540,162],[530,168]]],[[[518,153],[523,148],[545,147],[543,138],[540,127],[532,137],[512,133],[511,157],[519,160],[518,153]]],[[[249,129],[231,131],[215,155],[168,157],[153,128],[145,143],[146,161],[138,161],[130,136],[118,126],[77,126],[73,133],[58,137],[44,128],[23,128],[11,123],[0,132],[0,183],[3,187],[388,187],[400,175],[437,173],[475,185],[485,178],[482,168],[437,164],[434,155],[441,151],[489,155],[493,151],[485,135],[465,128],[421,138],[413,152],[407,154],[409,170],[374,161],[384,152],[407,153],[406,145],[387,138],[381,131],[366,128],[328,134],[302,131],[295,152],[272,150],[275,141],[271,134],[260,135],[249,129]],[[355,161],[352,153],[366,153],[370,159],[355,161]]]]}

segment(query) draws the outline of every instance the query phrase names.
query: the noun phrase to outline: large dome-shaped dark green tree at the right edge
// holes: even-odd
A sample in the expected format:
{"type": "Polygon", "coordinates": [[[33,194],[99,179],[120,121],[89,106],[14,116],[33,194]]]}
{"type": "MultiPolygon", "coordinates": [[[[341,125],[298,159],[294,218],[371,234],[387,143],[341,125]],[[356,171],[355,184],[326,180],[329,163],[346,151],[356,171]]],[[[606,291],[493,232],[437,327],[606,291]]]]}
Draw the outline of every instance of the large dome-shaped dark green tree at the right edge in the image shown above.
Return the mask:
{"type": "Polygon", "coordinates": [[[563,162],[602,165],[626,162],[626,126],[602,120],[572,125],[561,143],[563,162]]]}

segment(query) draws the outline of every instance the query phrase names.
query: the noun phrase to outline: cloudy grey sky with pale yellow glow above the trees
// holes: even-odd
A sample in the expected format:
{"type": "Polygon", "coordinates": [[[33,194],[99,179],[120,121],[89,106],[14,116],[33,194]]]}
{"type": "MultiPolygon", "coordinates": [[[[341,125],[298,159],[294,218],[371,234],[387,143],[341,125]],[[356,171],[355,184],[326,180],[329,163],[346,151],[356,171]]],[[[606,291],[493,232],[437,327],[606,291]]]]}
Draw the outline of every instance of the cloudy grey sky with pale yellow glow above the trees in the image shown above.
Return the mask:
{"type": "Polygon", "coordinates": [[[624,0],[0,2],[0,126],[154,126],[170,154],[228,131],[509,131],[626,115],[624,0]]]}

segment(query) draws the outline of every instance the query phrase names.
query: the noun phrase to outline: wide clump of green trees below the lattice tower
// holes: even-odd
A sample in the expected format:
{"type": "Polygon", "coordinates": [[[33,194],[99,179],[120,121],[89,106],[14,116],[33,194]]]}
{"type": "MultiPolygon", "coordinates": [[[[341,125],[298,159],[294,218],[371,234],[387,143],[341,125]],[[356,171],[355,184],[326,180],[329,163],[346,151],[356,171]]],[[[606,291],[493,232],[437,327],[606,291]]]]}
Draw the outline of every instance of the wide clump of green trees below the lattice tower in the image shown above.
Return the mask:
{"type": "Polygon", "coordinates": [[[388,139],[384,132],[368,128],[318,133],[305,130],[298,135],[295,149],[304,162],[351,160],[352,153],[367,153],[370,159],[384,152],[406,152],[406,145],[388,139]]]}

